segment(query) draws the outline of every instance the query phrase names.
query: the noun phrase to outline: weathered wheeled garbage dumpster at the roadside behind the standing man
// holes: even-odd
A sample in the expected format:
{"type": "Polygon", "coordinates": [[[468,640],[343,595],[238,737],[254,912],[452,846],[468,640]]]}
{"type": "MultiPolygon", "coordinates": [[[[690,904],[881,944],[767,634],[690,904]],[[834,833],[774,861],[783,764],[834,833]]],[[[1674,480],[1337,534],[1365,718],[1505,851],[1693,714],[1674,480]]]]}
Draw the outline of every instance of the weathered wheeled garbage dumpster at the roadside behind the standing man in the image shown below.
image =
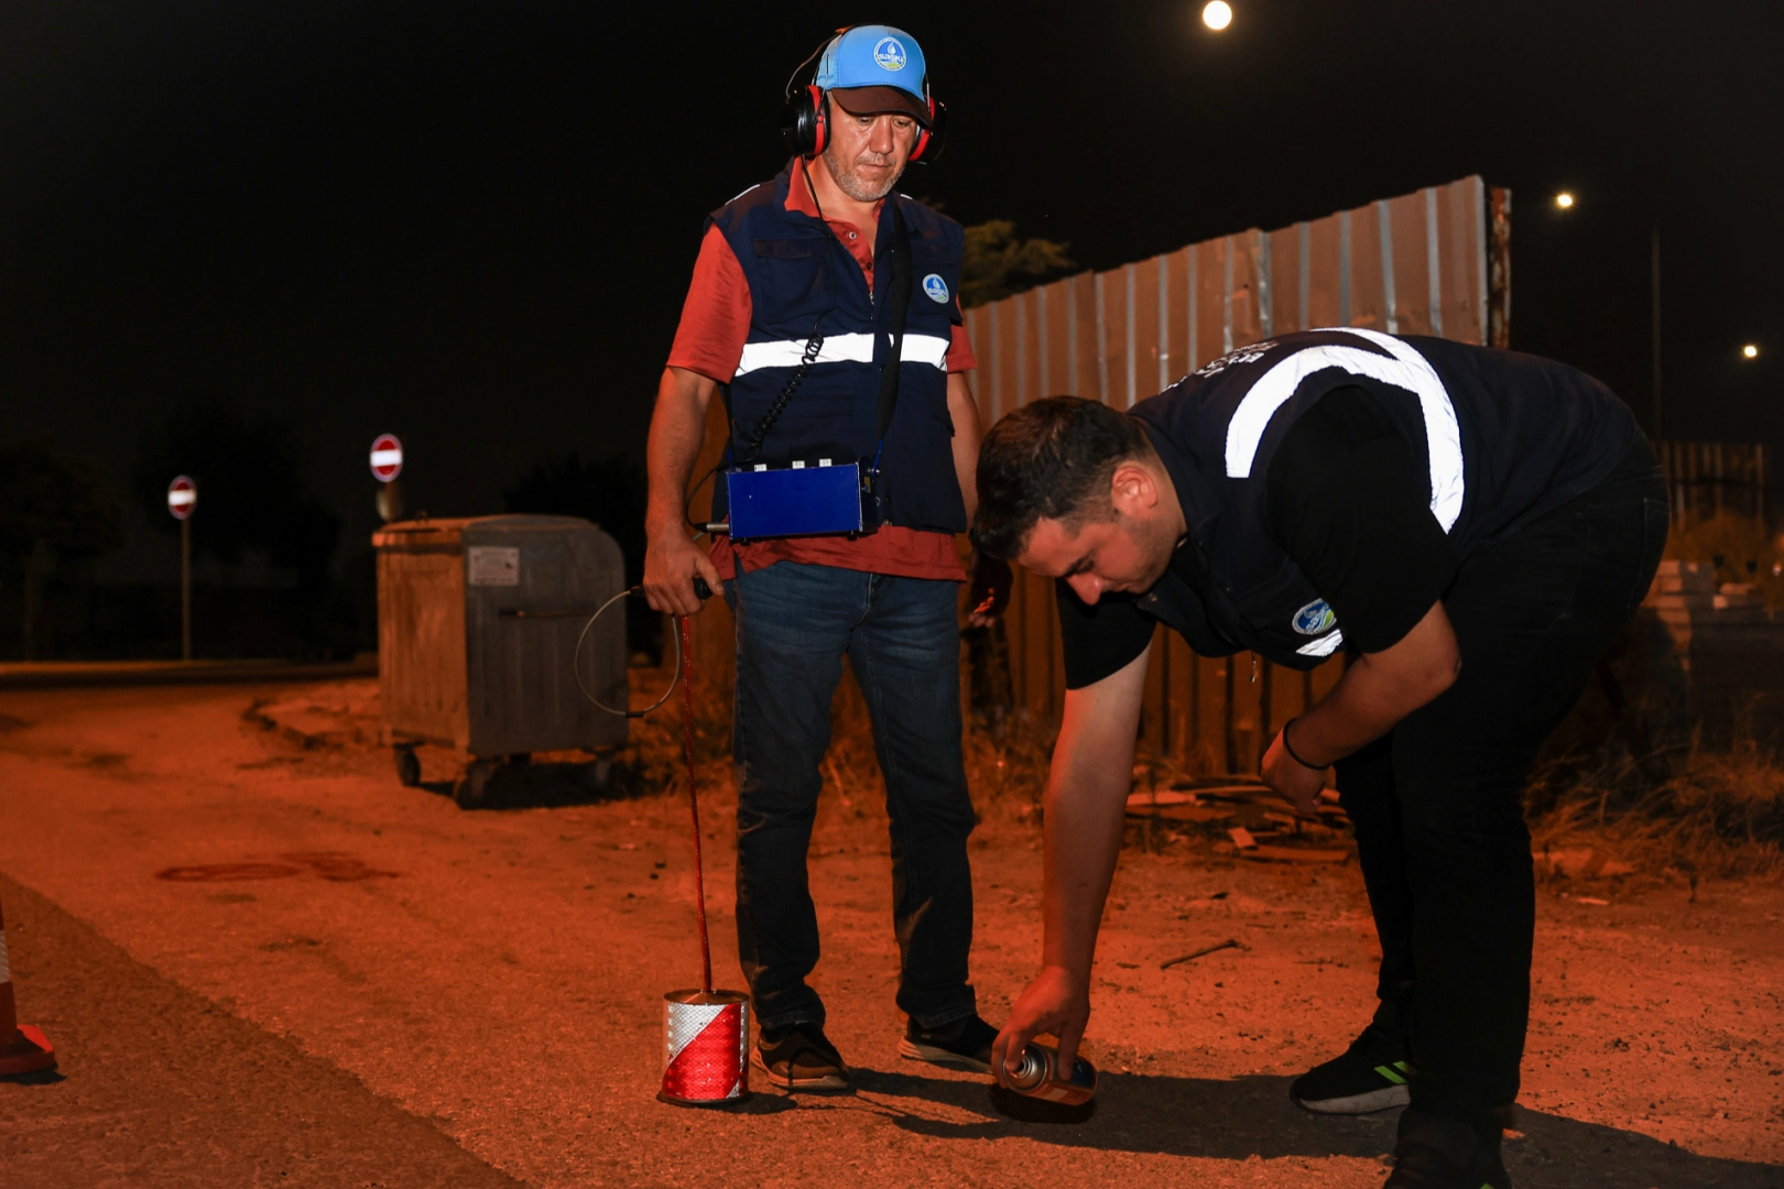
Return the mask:
{"type": "Polygon", "coordinates": [[[619,545],[576,517],[498,515],[401,521],[373,535],[378,551],[378,679],[385,740],[403,784],[419,784],[416,747],[471,754],[455,799],[483,802],[501,765],[533,752],[591,752],[585,779],[605,783],[599,752],[626,742],[624,601],[583,636],[596,608],[624,590],[619,545]],[[578,656],[578,638],[582,652],[578,656]]]}

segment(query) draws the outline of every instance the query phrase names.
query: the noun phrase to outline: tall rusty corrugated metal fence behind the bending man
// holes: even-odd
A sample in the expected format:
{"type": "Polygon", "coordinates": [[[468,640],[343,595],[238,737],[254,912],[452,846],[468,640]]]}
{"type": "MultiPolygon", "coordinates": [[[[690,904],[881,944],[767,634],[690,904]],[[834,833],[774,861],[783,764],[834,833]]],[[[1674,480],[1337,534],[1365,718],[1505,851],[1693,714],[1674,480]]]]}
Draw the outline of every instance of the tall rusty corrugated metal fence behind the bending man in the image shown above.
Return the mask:
{"type": "MultiPolygon", "coordinates": [[[[1058,394],[1129,408],[1235,348],[1317,326],[1502,346],[1509,209],[1509,191],[1468,176],[967,310],[981,364],[979,415],[988,426],[1058,394]]],[[[1053,583],[1019,572],[1004,631],[1017,709],[1058,722],[1065,668],[1053,583]]],[[[1249,652],[1202,658],[1160,627],[1144,747],[1195,772],[1256,770],[1274,731],[1340,672],[1342,661],[1299,674],[1249,652]]]]}

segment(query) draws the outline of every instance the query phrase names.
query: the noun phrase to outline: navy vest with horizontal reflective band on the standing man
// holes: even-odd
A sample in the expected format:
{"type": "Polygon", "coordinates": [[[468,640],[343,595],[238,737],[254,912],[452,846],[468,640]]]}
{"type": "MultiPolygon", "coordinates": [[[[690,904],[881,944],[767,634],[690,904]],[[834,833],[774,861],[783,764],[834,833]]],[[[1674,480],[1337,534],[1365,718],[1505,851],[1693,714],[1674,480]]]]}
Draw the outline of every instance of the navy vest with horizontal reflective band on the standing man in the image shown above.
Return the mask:
{"type": "MultiPolygon", "coordinates": [[[[954,422],[947,414],[947,348],[960,323],[960,225],[922,203],[888,194],[874,241],[876,291],[862,266],[821,221],[787,209],[792,164],[714,212],[749,282],[749,339],[726,390],[731,465],[817,465],[880,456],[887,524],[963,533],[967,508],[954,474],[954,422]],[[904,317],[897,408],[885,449],[876,440],[880,367],[890,344],[892,203],[910,230],[913,282],[904,317]],[[814,333],[824,337],[762,453],[746,458],[762,415],[787,387],[814,333]]],[[[714,515],[723,519],[724,485],[714,515]]]]}

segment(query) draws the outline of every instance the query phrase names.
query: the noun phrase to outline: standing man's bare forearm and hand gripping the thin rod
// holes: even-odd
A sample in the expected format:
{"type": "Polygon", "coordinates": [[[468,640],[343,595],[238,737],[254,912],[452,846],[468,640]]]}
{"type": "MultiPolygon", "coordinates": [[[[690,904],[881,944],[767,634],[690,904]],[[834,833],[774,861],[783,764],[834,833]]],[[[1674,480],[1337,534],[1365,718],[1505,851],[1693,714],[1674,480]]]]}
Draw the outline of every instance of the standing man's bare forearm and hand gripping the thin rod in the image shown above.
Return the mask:
{"type": "Polygon", "coordinates": [[[685,367],[665,367],[657,385],[651,435],[644,447],[649,503],[644,512],[644,599],[653,611],[694,615],[699,574],[714,590],[719,570],[687,535],[687,481],[706,433],[706,405],[717,381],[685,367]]]}

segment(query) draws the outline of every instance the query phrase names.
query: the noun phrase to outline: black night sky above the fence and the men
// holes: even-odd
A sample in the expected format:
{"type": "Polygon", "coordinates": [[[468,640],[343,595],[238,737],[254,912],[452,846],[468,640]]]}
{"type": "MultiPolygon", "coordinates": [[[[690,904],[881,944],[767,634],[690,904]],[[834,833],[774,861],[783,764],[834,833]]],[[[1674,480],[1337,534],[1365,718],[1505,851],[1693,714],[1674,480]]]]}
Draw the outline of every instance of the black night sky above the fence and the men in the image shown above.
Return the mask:
{"type": "Polygon", "coordinates": [[[787,75],[855,20],[908,29],[951,109],[901,189],[1086,267],[1509,185],[1513,346],[1643,419],[1657,221],[1668,435],[1784,439],[1784,5],[1233,7],[9,0],[0,433],[123,480],[221,390],[300,422],[351,535],[380,430],[435,515],[642,451],[701,219],[781,166],[787,75]]]}

